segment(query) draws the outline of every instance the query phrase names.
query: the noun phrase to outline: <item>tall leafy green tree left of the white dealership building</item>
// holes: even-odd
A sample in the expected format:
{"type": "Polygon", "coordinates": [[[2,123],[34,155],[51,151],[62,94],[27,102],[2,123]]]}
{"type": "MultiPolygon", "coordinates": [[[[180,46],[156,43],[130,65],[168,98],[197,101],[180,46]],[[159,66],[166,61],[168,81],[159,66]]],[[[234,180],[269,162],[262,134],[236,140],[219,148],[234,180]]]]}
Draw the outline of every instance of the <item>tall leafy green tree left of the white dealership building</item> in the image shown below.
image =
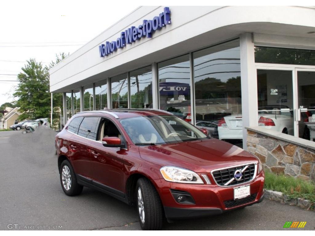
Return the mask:
{"type": "Polygon", "coordinates": [[[49,72],[48,68],[37,62],[35,59],[26,61],[22,67],[23,72],[19,73],[17,79],[20,83],[13,94],[18,98],[16,105],[23,112],[20,120],[26,118],[38,119],[49,117],[50,93],[49,93],[49,72]]]}

